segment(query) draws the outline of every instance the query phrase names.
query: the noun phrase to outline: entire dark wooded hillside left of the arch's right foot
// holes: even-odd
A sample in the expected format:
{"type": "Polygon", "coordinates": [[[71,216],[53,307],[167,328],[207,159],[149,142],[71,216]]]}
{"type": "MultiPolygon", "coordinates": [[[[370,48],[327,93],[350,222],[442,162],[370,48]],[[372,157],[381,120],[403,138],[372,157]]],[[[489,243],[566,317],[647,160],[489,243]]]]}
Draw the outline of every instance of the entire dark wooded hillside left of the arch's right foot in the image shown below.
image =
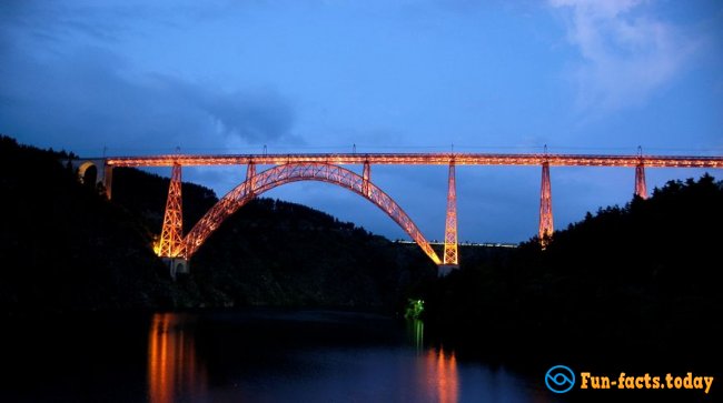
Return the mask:
{"type": "MultiPolygon", "coordinates": [[[[113,200],[78,182],[65,153],[0,138],[0,312],[245,305],[396,310],[435,275],[417,249],[313,209],[255,200],[170,280],[152,253],[168,179],[113,170],[113,200]]],[[[185,183],[185,230],[215,202],[185,183]]]]}

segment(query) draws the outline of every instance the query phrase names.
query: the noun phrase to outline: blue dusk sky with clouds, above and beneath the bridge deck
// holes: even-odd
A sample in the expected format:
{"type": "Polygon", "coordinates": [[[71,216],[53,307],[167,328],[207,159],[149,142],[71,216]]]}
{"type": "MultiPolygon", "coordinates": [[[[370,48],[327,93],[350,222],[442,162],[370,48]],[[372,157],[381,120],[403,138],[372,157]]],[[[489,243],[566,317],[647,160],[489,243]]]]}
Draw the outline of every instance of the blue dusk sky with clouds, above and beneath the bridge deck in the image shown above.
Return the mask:
{"type": "MultiPolygon", "coordinates": [[[[723,154],[719,1],[6,0],[0,16],[0,132],[81,155],[453,143],[723,154]]],[[[184,174],[221,195],[244,170],[184,174]]],[[[651,169],[648,187],[702,172],[651,169]]],[[[444,167],[372,169],[428,239],[443,238],[446,175],[444,167]]],[[[457,177],[460,240],[536,233],[539,168],[459,167],[457,177]]],[[[556,226],[625,203],[633,177],[553,168],[556,226]]],[[[267,195],[406,238],[327,184],[267,195]]]]}

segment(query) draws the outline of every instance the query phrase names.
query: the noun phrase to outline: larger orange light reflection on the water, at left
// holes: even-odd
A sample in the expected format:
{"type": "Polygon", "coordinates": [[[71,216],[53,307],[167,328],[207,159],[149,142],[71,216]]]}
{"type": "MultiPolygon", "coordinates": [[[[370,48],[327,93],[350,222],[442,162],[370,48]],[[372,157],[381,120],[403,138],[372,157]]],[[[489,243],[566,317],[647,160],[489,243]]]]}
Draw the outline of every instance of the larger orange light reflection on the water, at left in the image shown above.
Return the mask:
{"type": "Polygon", "coordinates": [[[206,369],[196,356],[192,320],[157,313],[148,335],[148,395],[151,403],[170,403],[206,393],[206,369]]]}

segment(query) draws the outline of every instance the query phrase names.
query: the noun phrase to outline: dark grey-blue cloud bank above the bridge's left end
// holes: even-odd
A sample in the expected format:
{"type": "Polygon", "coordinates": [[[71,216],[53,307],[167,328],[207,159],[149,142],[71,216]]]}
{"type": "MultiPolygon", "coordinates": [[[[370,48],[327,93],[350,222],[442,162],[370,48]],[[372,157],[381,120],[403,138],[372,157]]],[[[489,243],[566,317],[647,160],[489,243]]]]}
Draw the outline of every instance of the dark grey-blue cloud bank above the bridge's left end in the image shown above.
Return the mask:
{"type": "Polygon", "coordinates": [[[113,52],[80,47],[67,53],[2,51],[0,131],[78,152],[103,145],[125,152],[224,149],[298,142],[294,110],[273,90],[227,93],[179,78],[135,73],[113,52]]]}

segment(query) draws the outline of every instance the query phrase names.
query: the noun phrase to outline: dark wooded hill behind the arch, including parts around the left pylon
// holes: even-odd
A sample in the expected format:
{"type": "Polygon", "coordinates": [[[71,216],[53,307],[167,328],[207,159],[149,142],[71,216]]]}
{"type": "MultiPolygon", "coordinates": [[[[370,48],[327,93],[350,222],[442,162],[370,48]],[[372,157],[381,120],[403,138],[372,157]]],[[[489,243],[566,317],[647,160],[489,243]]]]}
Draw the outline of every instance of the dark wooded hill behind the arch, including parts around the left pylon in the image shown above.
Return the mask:
{"type": "MultiPolygon", "coordinates": [[[[113,170],[113,201],[160,232],[168,179],[113,170]]],[[[217,199],[184,184],[184,226],[217,199]]],[[[368,233],[295,203],[255,199],[208,239],[178,285],[201,306],[335,306],[397,310],[407,292],[436,268],[416,248],[368,233]]]]}

